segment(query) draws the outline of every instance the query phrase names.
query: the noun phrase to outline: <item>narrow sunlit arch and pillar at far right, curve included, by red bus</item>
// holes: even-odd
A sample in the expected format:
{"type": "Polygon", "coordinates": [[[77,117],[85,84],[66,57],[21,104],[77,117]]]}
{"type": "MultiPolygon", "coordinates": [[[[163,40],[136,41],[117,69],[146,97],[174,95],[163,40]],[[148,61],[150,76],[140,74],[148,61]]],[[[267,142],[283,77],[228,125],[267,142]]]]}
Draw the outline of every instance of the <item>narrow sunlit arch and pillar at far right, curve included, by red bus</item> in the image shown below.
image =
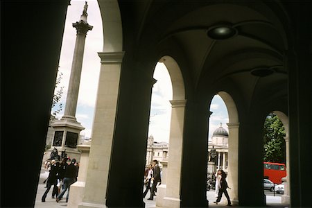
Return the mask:
{"type": "Polygon", "coordinates": [[[291,163],[289,162],[289,119],[284,112],[273,111],[283,123],[285,129],[285,144],[286,144],[286,183],[284,185],[284,194],[281,196],[281,203],[285,205],[291,204],[291,187],[290,187],[290,178],[291,178],[291,163]]]}

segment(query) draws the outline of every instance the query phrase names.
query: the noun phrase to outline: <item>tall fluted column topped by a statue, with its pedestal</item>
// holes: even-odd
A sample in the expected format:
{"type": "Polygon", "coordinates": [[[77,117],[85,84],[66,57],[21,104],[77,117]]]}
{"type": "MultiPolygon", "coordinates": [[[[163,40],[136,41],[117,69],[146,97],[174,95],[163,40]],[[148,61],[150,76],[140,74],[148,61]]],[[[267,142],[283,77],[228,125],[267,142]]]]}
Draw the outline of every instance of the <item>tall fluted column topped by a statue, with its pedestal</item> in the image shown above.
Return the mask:
{"type": "Polygon", "coordinates": [[[83,9],[80,20],[73,23],[77,30],[76,44],[73,51],[73,62],[71,64],[71,76],[67,92],[67,100],[64,116],[59,121],[55,121],[51,126],[54,130],[52,148],[59,151],[66,150],[67,156],[80,159],[80,152],[76,146],[80,137],[80,131],[85,128],[76,121],[76,108],[80,85],[81,70],[83,68],[83,53],[85,50],[85,37],[87,31],[92,30],[93,26],[87,23],[87,2],[83,9]]]}

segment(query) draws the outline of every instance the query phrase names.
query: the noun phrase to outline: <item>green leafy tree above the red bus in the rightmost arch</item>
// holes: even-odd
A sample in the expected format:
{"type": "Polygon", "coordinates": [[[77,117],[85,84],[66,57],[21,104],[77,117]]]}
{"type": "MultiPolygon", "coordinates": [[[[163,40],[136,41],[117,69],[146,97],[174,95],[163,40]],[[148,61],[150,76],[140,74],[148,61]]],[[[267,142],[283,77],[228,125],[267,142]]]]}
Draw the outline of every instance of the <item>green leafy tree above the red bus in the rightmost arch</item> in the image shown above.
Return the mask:
{"type": "Polygon", "coordinates": [[[270,113],[264,122],[263,149],[265,162],[286,161],[285,129],[276,114],[270,113]]]}

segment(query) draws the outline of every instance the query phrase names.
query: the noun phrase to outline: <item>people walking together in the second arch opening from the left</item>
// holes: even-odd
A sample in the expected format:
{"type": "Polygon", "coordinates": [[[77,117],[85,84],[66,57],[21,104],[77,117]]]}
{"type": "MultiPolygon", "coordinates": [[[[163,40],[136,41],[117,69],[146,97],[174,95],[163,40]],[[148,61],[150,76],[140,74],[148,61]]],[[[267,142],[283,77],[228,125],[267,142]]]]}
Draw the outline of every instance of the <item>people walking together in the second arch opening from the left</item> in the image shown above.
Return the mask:
{"type": "Polygon", "coordinates": [[[153,160],[153,163],[148,166],[148,170],[146,170],[144,184],[146,189],[143,193],[143,198],[146,197],[148,191],[150,191],[150,198],[148,200],[154,200],[154,196],[156,196],[157,185],[162,183],[160,168],[158,161],[156,159],[153,160]]]}

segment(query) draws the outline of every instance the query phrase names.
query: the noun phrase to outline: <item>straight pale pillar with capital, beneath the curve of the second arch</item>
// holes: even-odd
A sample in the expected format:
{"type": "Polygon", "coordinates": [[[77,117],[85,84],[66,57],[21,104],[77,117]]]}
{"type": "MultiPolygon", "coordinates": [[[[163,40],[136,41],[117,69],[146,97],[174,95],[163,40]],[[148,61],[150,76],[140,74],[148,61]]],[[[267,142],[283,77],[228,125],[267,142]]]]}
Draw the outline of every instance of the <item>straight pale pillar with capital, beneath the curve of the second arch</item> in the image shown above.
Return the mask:
{"type": "Polygon", "coordinates": [[[186,100],[170,101],[172,105],[169,139],[170,157],[166,182],[164,207],[180,207],[180,183],[182,166],[182,142],[186,100]]]}

